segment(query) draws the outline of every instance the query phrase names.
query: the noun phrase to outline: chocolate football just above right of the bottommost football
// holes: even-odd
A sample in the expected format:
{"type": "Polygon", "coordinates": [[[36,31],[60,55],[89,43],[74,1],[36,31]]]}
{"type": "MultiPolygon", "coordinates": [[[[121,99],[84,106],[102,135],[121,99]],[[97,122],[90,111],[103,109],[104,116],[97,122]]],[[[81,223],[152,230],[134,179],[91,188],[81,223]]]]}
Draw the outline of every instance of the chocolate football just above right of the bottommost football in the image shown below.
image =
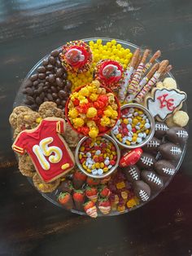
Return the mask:
{"type": "Polygon", "coordinates": [[[161,179],[158,174],[155,174],[154,171],[142,170],[142,179],[152,190],[159,190],[164,187],[163,179],[161,179]]]}

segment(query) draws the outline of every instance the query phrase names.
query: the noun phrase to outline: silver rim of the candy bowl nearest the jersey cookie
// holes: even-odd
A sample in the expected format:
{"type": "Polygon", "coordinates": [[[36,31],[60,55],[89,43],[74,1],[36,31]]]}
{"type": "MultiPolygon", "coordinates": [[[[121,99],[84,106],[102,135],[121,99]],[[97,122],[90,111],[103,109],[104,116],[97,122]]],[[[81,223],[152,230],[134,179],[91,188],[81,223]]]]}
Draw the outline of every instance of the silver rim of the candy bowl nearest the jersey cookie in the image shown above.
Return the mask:
{"type": "Polygon", "coordinates": [[[75,152],[75,160],[76,160],[76,166],[79,167],[79,169],[84,173],[86,174],[87,176],[91,177],[91,178],[94,178],[94,179],[103,179],[107,176],[109,176],[110,174],[112,174],[116,168],[119,166],[119,161],[120,161],[120,148],[118,146],[118,144],[116,143],[116,141],[114,139],[111,138],[111,136],[109,135],[103,135],[102,136],[103,138],[105,139],[108,139],[111,141],[111,143],[114,144],[114,146],[116,147],[116,165],[115,166],[112,166],[111,169],[109,171],[107,171],[106,173],[103,173],[101,175],[94,175],[94,174],[91,174],[89,172],[87,172],[82,166],[81,166],[81,162],[79,161],[79,157],[78,157],[78,154],[79,154],[79,149],[81,148],[81,144],[86,140],[86,139],[89,139],[89,137],[83,137],[81,139],[81,141],[77,144],[76,146],[76,152],[75,152]]]}

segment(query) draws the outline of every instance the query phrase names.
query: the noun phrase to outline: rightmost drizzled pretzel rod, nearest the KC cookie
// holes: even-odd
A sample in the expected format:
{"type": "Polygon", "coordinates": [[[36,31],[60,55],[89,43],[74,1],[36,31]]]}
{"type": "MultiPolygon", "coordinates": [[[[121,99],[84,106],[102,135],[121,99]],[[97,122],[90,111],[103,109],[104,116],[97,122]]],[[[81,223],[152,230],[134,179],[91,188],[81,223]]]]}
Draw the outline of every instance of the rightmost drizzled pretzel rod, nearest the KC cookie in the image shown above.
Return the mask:
{"type": "Polygon", "coordinates": [[[135,98],[135,101],[137,103],[141,103],[142,99],[146,96],[147,92],[151,90],[151,87],[155,85],[156,82],[158,82],[158,79],[162,73],[166,70],[168,67],[168,60],[163,60],[159,64],[159,69],[155,72],[155,74],[151,77],[150,81],[146,83],[146,86],[140,90],[140,92],[137,94],[137,97],[135,98]]]}

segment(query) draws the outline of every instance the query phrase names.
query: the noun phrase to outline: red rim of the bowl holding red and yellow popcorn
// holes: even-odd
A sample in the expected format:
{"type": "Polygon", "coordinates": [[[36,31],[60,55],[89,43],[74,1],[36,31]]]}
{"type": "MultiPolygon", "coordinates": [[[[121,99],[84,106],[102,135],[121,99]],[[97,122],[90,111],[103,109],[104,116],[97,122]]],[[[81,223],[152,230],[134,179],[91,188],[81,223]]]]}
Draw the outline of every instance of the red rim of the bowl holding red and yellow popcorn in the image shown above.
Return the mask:
{"type": "MultiPolygon", "coordinates": [[[[83,88],[84,86],[87,86],[87,85],[79,86],[78,88],[76,88],[76,90],[73,90],[72,93],[74,93],[75,91],[81,90],[81,88],[83,88]]],[[[113,93],[113,91],[112,91],[111,89],[109,89],[109,88],[106,87],[106,86],[100,86],[100,87],[105,88],[106,91],[107,91],[107,93],[111,92],[111,93],[114,95],[114,98],[115,98],[115,100],[116,100],[116,104],[117,104],[117,106],[118,106],[118,108],[116,109],[116,111],[117,111],[117,113],[118,113],[118,117],[116,118],[116,122],[117,122],[117,121],[120,119],[120,101],[119,101],[119,99],[117,99],[116,95],[113,93]]],[[[77,131],[76,128],[74,128],[74,126],[72,126],[72,123],[71,123],[71,121],[70,121],[69,118],[68,118],[68,103],[69,103],[69,100],[70,100],[70,98],[68,98],[68,100],[67,100],[67,102],[66,102],[66,105],[65,105],[65,117],[66,117],[67,120],[68,120],[68,124],[72,127],[72,130],[75,130],[78,134],[87,136],[87,135],[85,135],[85,134],[83,134],[83,133],[77,131]]],[[[116,126],[116,123],[115,123],[114,126],[116,126]]],[[[106,130],[106,131],[103,132],[103,133],[99,133],[99,134],[98,134],[98,137],[99,137],[99,136],[102,136],[102,135],[105,135],[105,134],[108,134],[114,126],[111,126],[108,130],[106,130]]]]}

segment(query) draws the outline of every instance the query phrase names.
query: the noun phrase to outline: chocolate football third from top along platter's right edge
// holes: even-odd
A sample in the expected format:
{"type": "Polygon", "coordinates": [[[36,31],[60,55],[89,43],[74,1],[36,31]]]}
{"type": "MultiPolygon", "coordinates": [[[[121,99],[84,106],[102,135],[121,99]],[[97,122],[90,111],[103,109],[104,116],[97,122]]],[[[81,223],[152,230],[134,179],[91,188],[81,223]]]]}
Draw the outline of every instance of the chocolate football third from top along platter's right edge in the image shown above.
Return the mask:
{"type": "Polygon", "coordinates": [[[163,176],[172,176],[176,172],[175,166],[173,166],[170,163],[170,161],[167,161],[167,160],[157,161],[155,163],[154,169],[159,175],[163,175],[163,176]]]}

